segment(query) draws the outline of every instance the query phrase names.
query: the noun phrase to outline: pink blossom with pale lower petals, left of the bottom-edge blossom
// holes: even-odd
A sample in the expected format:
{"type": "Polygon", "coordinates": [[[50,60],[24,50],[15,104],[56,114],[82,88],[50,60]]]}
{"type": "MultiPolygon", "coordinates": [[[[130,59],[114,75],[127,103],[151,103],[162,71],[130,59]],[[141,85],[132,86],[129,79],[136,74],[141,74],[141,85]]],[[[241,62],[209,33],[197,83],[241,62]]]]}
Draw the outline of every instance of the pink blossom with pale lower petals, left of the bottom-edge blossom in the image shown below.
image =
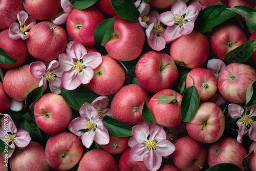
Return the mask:
{"type": "Polygon", "coordinates": [[[89,148],[93,141],[98,144],[108,144],[110,142],[109,132],[103,125],[98,115],[98,111],[90,103],[84,103],[80,110],[80,117],[77,117],[69,124],[69,130],[77,135],[82,144],[89,148]]]}

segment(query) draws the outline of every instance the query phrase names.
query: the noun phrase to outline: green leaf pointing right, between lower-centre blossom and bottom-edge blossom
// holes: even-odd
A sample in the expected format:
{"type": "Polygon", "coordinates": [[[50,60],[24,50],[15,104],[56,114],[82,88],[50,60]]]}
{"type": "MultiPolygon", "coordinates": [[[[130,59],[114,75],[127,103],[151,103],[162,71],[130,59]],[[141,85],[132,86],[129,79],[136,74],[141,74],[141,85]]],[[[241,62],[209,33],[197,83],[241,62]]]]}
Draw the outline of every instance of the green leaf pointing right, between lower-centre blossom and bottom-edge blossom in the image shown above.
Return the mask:
{"type": "Polygon", "coordinates": [[[111,135],[116,137],[130,137],[132,136],[132,126],[127,125],[117,119],[104,116],[102,119],[104,126],[108,129],[111,135]]]}

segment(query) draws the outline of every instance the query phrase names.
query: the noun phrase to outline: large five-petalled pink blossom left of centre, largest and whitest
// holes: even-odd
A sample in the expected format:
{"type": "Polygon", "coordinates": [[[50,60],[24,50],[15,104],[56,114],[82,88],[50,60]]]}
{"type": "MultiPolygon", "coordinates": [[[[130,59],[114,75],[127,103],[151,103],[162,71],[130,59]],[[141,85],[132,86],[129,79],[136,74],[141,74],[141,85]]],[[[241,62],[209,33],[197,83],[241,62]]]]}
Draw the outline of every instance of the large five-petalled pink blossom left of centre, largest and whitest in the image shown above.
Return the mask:
{"type": "Polygon", "coordinates": [[[64,89],[74,90],[80,84],[87,84],[93,78],[93,69],[102,62],[99,52],[87,53],[79,42],[74,42],[69,53],[59,54],[59,64],[64,71],[61,84],[64,89]]]}

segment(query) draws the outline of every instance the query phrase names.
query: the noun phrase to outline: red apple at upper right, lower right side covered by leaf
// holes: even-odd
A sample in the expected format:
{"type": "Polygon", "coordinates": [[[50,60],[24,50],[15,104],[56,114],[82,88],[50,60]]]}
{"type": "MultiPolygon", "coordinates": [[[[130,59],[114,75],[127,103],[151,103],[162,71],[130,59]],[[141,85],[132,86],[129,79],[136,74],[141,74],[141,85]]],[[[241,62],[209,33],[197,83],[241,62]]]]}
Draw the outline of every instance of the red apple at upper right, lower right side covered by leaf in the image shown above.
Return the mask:
{"type": "Polygon", "coordinates": [[[233,23],[223,23],[212,28],[209,39],[212,53],[221,60],[224,60],[226,53],[247,41],[244,31],[233,23]]]}

